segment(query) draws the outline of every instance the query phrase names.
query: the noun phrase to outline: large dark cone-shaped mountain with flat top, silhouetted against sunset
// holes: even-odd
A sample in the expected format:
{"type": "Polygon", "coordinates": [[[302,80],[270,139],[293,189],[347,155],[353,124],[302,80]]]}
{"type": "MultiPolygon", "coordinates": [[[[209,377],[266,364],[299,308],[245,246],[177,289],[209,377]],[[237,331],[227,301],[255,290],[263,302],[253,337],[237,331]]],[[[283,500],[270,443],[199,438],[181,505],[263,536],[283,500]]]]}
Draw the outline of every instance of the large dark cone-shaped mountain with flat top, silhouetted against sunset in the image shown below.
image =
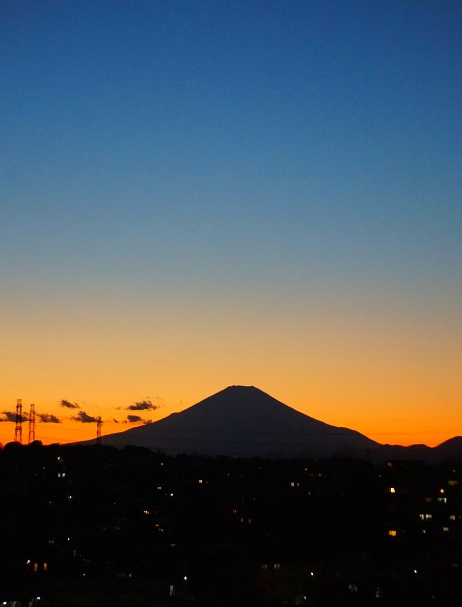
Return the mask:
{"type": "Polygon", "coordinates": [[[106,435],[103,442],[169,454],[234,457],[365,457],[378,446],[355,430],[330,426],[242,385],[229,386],[152,424],[106,435]]]}

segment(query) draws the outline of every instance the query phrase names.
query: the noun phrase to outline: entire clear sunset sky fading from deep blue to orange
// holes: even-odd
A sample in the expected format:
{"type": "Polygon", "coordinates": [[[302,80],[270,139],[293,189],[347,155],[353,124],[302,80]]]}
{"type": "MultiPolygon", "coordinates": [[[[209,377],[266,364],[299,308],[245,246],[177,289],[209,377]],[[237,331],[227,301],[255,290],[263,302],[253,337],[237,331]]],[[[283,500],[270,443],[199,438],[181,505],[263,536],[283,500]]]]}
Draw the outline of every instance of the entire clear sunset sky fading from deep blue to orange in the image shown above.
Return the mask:
{"type": "Polygon", "coordinates": [[[458,0],[3,0],[0,52],[0,442],[234,384],[462,435],[458,0]]]}

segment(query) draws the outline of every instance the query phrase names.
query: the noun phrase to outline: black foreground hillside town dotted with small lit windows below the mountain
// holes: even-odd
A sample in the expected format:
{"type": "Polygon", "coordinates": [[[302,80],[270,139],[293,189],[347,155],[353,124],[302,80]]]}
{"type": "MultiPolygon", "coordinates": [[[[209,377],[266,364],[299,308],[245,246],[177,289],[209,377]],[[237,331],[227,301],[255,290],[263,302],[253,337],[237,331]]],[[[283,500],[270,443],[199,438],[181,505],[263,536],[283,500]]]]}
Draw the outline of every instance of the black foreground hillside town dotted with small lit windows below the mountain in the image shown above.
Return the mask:
{"type": "Polygon", "coordinates": [[[8,444],[0,605],[460,605],[461,490],[454,462],[8,444]]]}

